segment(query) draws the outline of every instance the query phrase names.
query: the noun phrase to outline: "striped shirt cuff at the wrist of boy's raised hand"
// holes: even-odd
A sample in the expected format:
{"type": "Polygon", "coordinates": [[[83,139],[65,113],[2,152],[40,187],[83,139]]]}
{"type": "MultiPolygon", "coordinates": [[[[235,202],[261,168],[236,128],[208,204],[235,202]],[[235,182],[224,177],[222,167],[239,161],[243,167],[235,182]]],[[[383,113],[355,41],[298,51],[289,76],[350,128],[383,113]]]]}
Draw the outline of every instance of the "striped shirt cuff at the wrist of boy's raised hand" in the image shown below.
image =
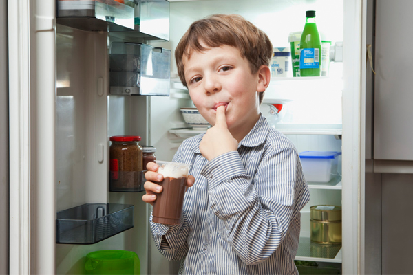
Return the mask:
{"type": "Polygon", "coordinates": [[[247,174],[238,151],[230,151],[212,159],[202,168],[201,175],[207,178],[211,189],[231,177],[247,174]]]}

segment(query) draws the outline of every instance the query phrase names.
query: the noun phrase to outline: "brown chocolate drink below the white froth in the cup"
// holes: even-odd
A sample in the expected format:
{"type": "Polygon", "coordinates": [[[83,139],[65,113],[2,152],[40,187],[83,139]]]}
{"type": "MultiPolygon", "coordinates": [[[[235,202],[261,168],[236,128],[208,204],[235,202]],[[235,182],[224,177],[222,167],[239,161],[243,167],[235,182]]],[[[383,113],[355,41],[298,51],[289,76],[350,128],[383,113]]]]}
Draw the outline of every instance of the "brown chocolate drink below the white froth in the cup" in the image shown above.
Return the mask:
{"type": "Polygon", "coordinates": [[[156,195],[153,203],[154,223],[177,224],[182,216],[187,177],[165,177],[160,185],[162,192],[156,195]]]}

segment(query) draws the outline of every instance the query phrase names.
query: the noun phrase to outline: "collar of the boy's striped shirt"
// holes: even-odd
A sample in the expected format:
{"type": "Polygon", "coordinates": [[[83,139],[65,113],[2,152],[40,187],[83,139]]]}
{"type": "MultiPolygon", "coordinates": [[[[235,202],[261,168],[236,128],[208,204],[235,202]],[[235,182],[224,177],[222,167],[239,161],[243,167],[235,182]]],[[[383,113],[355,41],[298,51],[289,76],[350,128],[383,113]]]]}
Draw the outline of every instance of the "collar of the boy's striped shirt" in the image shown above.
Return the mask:
{"type": "MultiPolygon", "coordinates": [[[[257,123],[255,123],[253,129],[251,129],[251,131],[241,140],[241,142],[238,144],[238,148],[240,148],[240,146],[255,147],[263,144],[266,140],[269,129],[270,126],[268,125],[266,118],[264,118],[262,113],[260,113],[260,118],[258,119],[257,123]]],[[[195,142],[195,146],[193,146],[192,148],[193,153],[201,153],[200,142],[204,135],[205,134],[203,133],[195,137],[198,138],[198,142],[195,142]]]]}

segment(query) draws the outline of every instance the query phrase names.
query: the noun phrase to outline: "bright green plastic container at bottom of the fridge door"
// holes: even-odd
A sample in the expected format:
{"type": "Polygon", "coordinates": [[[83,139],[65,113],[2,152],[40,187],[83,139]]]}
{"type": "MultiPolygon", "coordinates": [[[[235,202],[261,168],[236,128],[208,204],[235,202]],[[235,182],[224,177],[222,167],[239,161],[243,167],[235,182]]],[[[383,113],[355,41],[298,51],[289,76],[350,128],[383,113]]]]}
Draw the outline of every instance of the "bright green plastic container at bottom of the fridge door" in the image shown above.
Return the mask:
{"type": "Polygon", "coordinates": [[[138,255],[125,250],[100,250],[86,255],[86,274],[140,274],[138,255]]]}

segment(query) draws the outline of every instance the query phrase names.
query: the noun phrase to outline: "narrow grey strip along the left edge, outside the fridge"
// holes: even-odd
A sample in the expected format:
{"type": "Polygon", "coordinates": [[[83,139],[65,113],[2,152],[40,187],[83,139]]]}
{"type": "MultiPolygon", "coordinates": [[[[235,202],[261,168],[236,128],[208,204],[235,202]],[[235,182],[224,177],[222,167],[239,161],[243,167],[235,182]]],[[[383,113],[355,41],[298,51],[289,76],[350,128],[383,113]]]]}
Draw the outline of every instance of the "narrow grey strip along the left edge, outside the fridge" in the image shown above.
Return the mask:
{"type": "Polygon", "coordinates": [[[0,2],[0,274],[8,274],[8,17],[0,2]]]}

